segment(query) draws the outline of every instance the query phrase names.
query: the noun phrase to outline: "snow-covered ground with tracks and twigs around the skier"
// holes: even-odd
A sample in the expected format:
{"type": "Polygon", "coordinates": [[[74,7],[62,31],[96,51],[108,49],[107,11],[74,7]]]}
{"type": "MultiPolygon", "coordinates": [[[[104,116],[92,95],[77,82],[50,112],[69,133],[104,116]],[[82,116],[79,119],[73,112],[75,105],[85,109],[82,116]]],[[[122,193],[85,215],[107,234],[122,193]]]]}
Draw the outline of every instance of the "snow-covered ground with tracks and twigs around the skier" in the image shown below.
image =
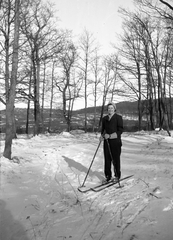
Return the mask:
{"type": "MultiPolygon", "coordinates": [[[[99,135],[1,136],[1,240],[172,240],[173,134],[123,133],[122,188],[81,193],[99,135]]],[[[101,182],[102,144],[85,186],[101,182]]]]}

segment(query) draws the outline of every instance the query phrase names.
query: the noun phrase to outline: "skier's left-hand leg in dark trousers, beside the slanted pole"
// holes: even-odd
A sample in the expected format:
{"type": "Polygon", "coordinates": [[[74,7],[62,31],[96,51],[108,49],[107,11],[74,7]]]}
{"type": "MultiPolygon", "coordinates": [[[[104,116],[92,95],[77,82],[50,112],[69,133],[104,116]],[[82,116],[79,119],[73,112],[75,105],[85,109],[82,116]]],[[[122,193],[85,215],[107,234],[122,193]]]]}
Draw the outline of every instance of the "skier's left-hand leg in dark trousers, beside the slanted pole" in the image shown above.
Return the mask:
{"type": "Polygon", "coordinates": [[[112,172],[111,172],[111,157],[109,154],[109,149],[108,149],[108,145],[107,142],[104,141],[104,173],[105,173],[105,177],[106,179],[110,180],[112,177],[112,172]]]}

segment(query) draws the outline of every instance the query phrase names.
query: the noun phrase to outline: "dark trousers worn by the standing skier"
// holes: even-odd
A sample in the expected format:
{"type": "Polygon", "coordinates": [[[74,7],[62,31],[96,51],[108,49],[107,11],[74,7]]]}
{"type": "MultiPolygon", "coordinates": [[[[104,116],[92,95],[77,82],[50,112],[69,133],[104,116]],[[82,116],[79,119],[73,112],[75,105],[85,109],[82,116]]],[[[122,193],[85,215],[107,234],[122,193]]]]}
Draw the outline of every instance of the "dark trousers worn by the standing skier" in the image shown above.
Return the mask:
{"type": "Polygon", "coordinates": [[[121,178],[121,164],[120,164],[121,146],[122,143],[121,140],[119,139],[108,139],[108,142],[107,140],[104,140],[103,144],[105,158],[104,173],[106,178],[112,177],[111,164],[113,164],[114,167],[115,177],[121,178]]]}

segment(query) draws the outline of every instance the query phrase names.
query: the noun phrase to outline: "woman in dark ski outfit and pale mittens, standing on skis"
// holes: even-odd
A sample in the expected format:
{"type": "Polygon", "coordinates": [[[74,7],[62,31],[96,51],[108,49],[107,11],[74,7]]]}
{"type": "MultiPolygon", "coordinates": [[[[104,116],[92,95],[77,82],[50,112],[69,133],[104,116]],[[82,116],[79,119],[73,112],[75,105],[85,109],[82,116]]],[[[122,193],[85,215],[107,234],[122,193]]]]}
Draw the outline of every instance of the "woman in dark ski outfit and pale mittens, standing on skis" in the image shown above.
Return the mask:
{"type": "Polygon", "coordinates": [[[111,164],[114,167],[114,181],[119,181],[121,178],[121,134],[123,132],[123,119],[121,115],[116,113],[116,105],[108,103],[108,114],[102,119],[101,137],[100,141],[104,140],[104,174],[105,182],[112,179],[111,164]]]}

